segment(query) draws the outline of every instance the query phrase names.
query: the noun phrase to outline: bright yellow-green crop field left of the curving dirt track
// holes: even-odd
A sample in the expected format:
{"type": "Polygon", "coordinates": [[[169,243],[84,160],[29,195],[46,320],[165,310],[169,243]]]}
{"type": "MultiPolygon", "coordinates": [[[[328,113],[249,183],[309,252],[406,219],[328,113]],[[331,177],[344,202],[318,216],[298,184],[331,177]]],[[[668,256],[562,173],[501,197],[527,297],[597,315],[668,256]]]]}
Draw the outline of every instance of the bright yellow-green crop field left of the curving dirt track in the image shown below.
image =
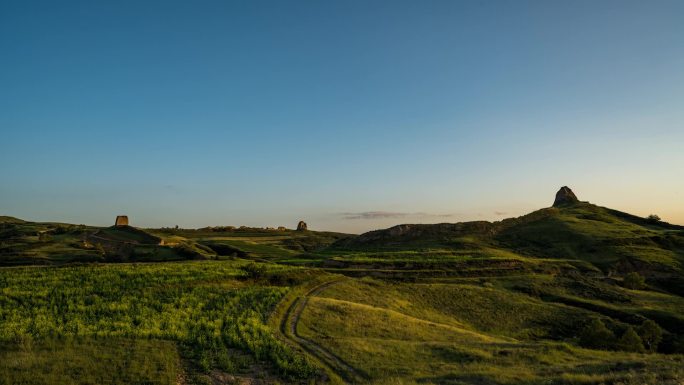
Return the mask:
{"type": "MultiPolygon", "coordinates": [[[[16,341],[36,341],[38,355],[50,354],[41,349],[43,341],[87,338],[90,349],[110,347],[120,339],[171,341],[171,350],[177,346],[198,373],[235,372],[260,363],[266,376],[311,377],[314,370],[306,359],[266,325],[268,314],[289,290],[279,277],[291,274],[292,268],[268,265],[262,274],[271,281],[255,282],[247,278],[245,266],[247,262],[204,261],[2,269],[0,341],[10,350],[16,349],[16,341]],[[242,355],[234,359],[231,349],[248,352],[250,360],[242,355]]],[[[55,343],[57,351],[62,349],[55,343]]],[[[71,345],[63,348],[77,351],[71,345]]],[[[23,368],[30,377],[32,365],[4,370],[17,377],[23,368]]]]}

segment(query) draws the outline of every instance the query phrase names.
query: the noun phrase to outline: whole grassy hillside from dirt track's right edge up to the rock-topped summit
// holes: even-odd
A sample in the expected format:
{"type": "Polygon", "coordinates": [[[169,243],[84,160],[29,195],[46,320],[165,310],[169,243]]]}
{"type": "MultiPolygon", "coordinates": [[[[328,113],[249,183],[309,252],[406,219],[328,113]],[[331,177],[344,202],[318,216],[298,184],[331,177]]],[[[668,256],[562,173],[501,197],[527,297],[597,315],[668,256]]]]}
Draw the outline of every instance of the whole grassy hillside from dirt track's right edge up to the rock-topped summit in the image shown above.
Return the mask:
{"type": "Polygon", "coordinates": [[[681,226],[586,202],[399,225],[318,253],[352,278],[297,330],[370,383],[678,384],[683,245],[681,226]]]}

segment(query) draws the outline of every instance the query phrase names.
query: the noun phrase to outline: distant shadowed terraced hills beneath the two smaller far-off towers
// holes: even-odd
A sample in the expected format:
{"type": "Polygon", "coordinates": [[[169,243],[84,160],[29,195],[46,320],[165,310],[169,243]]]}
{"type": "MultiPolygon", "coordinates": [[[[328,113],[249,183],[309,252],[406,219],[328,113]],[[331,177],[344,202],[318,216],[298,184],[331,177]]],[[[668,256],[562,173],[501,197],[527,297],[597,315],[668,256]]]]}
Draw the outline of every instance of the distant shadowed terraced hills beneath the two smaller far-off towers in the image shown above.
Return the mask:
{"type": "Polygon", "coordinates": [[[0,266],[224,257],[297,260],[346,234],[257,228],[138,229],[0,217],[0,266]]]}

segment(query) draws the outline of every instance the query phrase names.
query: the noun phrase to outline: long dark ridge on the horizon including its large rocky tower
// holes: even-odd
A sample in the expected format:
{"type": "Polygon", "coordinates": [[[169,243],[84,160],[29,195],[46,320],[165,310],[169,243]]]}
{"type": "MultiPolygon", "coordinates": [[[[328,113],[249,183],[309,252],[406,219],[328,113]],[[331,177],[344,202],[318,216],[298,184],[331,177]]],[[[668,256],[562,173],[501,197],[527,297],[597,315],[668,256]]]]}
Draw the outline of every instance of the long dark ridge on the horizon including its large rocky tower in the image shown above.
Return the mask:
{"type": "Polygon", "coordinates": [[[527,257],[581,260],[606,273],[683,271],[683,226],[637,217],[573,198],[572,191],[561,189],[554,207],[518,218],[498,222],[398,225],[340,240],[329,250],[341,253],[345,250],[494,249],[527,257]],[[571,198],[567,198],[570,194],[571,198]]]}

